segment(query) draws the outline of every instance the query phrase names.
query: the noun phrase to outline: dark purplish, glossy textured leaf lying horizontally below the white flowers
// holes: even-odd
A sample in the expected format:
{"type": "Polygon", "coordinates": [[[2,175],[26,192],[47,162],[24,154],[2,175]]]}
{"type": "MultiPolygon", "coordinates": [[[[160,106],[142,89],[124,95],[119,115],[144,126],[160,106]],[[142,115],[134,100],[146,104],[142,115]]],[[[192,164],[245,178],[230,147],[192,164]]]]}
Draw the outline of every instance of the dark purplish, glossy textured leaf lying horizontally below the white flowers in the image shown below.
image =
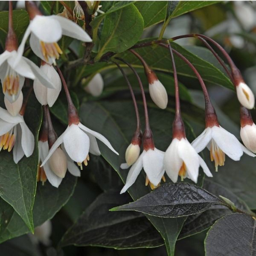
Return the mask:
{"type": "Polygon", "coordinates": [[[190,183],[166,183],[142,198],[111,211],[134,210],[157,217],[182,217],[204,212],[215,204],[223,204],[218,197],[190,183]]]}

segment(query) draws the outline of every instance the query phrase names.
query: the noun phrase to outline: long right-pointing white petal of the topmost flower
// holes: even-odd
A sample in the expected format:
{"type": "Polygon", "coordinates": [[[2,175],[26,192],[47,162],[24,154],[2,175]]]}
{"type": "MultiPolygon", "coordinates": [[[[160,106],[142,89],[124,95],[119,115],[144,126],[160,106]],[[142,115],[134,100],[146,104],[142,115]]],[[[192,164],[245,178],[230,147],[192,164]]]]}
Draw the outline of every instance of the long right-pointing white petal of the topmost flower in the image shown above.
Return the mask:
{"type": "MultiPolygon", "coordinates": [[[[74,23],[71,20],[68,20],[67,18],[61,17],[59,15],[51,15],[48,16],[52,20],[58,20],[61,28],[62,28],[62,34],[70,36],[72,38],[75,38],[77,40],[81,40],[84,42],[91,42],[92,39],[90,36],[82,29],[79,25],[74,23]]],[[[57,40],[56,40],[57,41],[57,40]]]]}

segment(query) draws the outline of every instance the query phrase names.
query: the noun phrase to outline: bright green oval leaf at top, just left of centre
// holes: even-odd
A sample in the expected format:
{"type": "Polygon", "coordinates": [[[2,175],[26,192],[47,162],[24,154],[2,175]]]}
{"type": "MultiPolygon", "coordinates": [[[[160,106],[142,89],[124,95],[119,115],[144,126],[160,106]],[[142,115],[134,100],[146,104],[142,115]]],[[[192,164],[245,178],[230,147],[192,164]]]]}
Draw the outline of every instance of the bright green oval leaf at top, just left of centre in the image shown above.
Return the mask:
{"type": "Polygon", "coordinates": [[[106,15],[95,60],[105,52],[123,52],[140,39],[144,22],[138,9],[131,4],[106,15]]]}

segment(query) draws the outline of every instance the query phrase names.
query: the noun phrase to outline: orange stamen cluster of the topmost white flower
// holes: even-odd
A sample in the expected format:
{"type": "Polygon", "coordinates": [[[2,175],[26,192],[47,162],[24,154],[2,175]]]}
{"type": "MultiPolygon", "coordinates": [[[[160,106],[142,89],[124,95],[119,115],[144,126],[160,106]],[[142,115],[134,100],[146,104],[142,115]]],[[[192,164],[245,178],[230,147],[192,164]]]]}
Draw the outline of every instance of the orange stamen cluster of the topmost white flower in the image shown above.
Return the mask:
{"type": "Polygon", "coordinates": [[[60,54],[63,52],[61,48],[58,46],[58,43],[45,43],[40,41],[41,52],[46,61],[48,62],[49,59],[52,60],[53,64],[56,65],[55,59],[59,59],[60,54]]]}

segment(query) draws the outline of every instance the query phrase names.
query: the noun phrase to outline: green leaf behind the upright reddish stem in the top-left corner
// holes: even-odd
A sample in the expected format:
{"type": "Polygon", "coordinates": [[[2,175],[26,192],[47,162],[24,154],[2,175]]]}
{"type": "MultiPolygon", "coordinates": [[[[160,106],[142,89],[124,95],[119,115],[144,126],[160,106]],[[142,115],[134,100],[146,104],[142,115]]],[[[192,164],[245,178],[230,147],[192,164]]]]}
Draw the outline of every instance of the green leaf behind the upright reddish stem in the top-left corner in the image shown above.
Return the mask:
{"type": "MultiPolygon", "coordinates": [[[[27,26],[29,25],[29,15],[24,10],[13,10],[13,27],[17,35],[18,42],[21,41],[27,26]]],[[[4,48],[6,35],[8,33],[8,11],[0,12],[0,44],[4,48]]]]}

